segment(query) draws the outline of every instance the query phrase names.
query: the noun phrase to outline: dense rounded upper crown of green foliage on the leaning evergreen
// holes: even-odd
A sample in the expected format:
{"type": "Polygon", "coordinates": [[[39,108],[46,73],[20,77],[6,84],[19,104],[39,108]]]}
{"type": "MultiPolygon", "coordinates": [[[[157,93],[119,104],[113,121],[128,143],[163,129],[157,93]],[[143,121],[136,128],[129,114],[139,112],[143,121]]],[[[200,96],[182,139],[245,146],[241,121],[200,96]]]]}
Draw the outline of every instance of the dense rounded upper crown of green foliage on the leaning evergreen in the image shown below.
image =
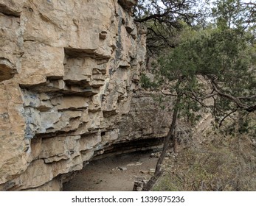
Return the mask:
{"type": "Polygon", "coordinates": [[[201,35],[181,43],[163,56],[159,60],[160,72],[169,80],[179,77],[190,79],[190,84],[196,83],[193,77],[199,74],[212,74],[221,81],[238,77],[227,75],[231,71],[239,71],[240,77],[241,73],[249,75],[245,49],[245,40],[232,29],[201,32],[201,35]]]}

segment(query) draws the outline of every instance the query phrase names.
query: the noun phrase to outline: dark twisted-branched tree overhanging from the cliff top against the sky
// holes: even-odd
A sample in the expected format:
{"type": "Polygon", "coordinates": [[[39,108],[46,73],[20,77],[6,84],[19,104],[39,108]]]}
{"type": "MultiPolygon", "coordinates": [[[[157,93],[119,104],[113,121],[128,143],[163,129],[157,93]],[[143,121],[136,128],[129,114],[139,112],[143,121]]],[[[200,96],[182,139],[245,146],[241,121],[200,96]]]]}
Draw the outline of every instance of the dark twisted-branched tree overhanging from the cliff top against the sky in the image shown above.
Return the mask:
{"type": "Polygon", "coordinates": [[[177,36],[185,24],[191,24],[200,13],[193,8],[196,0],[139,0],[134,7],[135,21],[147,26],[148,55],[159,54],[177,45],[177,36]]]}

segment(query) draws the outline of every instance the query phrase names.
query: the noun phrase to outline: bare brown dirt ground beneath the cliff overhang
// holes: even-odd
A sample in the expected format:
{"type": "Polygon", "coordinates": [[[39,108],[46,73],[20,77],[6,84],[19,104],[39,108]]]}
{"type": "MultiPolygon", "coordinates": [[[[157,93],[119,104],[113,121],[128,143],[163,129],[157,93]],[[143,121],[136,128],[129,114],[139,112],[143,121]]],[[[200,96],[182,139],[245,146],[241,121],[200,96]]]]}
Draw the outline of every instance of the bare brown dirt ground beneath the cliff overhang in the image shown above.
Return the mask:
{"type": "Polygon", "coordinates": [[[119,154],[94,160],[74,179],[63,185],[63,191],[132,191],[134,180],[149,179],[156,166],[151,152],[119,154]]]}

